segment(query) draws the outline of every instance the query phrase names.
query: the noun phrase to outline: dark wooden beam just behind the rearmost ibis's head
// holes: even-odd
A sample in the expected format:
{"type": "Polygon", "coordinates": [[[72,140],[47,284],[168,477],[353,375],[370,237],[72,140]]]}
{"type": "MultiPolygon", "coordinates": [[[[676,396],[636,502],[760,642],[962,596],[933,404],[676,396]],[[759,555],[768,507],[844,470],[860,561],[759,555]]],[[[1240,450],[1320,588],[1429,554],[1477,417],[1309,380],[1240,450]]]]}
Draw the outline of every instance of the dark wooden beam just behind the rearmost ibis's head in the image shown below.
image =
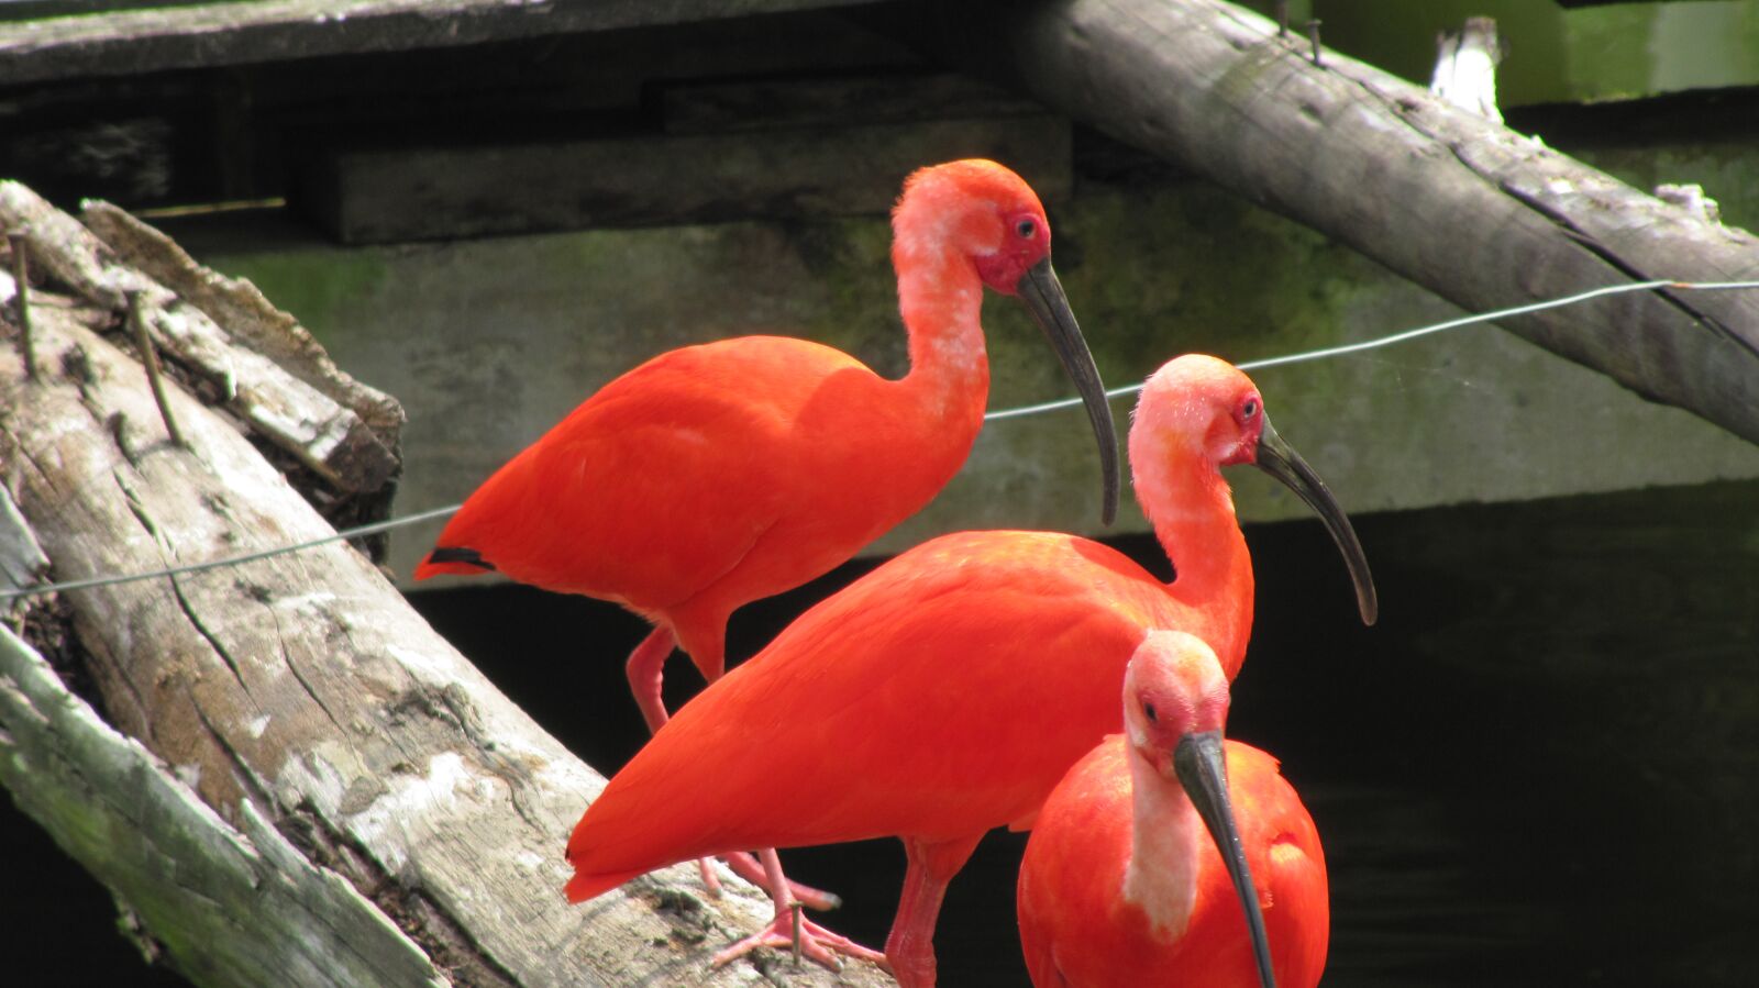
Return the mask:
{"type": "Polygon", "coordinates": [[[1062,118],[338,151],[299,206],[350,244],[887,213],[911,171],[987,156],[1069,193],[1062,118]]]}

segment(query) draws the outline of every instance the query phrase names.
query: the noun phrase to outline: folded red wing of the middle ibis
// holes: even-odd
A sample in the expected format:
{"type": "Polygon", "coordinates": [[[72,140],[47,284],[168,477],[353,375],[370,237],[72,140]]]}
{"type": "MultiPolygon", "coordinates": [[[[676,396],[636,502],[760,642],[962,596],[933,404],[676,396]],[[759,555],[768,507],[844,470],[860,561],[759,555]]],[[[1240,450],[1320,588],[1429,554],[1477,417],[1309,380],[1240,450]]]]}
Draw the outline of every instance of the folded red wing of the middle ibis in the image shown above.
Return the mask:
{"type": "Polygon", "coordinates": [[[1098,603],[1071,541],[946,536],[823,601],[677,712],[582,817],[570,860],[596,874],[946,840],[1034,810],[1119,728],[1142,636],[1098,603]]]}

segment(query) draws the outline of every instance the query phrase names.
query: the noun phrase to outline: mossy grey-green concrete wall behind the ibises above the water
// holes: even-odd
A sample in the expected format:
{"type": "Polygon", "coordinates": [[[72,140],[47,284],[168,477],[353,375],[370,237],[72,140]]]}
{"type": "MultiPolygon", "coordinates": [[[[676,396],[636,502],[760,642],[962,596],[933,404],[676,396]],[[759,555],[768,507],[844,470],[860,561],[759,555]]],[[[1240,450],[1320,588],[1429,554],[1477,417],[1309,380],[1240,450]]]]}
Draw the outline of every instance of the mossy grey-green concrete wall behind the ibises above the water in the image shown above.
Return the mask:
{"type": "MultiPolygon", "coordinates": [[[[1752,223],[1759,209],[1740,197],[1759,186],[1738,183],[1750,163],[1734,163],[1750,149],[1712,151],[1608,156],[1676,181],[1715,176],[1710,193],[1731,222],[1752,223]]],[[[1191,350],[1252,360],[1462,315],[1203,183],[1087,179],[1050,209],[1057,269],[1112,387],[1191,350]]],[[[904,369],[880,216],[347,250],[260,229],[245,239],[176,234],[208,264],[257,281],[341,366],[405,403],[403,512],[463,499],[603,381],[686,343],[779,332],[887,374],[904,369]]],[[[992,295],[985,327],[990,408],[1069,394],[1018,304],[992,295]]],[[[1759,476],[1759,448],[1490,325],[1256,380],[1279,431],[1354,513],[1759,476]]],[[[1115,404],[1120,429],[1129,406],[1115,404]]],[[[1256,471],[1233,482],[1244,519],[1305,513],[1256,471]]],[[[874,550],[962,527],[1096,533],[1098,501],[1078,410],[994,422],[936,503],[874,550]]],[[[1129,499],[1117,527],[1143,527],[1129,499]]],[[[399,573],[436,531],[399,533],[399,573]]]]}

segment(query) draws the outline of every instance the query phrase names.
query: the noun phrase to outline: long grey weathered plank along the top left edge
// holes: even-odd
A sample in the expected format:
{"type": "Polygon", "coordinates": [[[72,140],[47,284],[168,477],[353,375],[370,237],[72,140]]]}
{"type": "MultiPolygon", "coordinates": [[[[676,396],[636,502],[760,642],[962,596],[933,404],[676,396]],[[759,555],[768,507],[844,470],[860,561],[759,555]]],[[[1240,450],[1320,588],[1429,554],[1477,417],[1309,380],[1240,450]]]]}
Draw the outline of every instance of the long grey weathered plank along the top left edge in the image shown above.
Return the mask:
{"type": "Polygon", "coordinates": [[[867,0],[253,0],[0,23],[0,84],[410,51],[867,0]]]}

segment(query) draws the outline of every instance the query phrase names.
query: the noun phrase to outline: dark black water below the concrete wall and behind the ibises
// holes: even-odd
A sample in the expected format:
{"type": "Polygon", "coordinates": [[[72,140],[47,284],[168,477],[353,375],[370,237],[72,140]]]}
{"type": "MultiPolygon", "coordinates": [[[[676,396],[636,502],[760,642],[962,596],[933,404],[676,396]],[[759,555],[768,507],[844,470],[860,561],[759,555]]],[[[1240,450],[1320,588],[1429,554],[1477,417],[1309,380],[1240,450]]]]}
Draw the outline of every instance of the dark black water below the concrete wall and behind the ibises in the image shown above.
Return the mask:
{"type": "MultiPolygon", "coordinates": [[[[1332,875],[1326,984],[1759,984],[1759,483],[1358,520],[1365,629],[1323,529],[1247,531],[1258,628],[1230,733],[1282,758],[1332,875]]],[[[1119,543],[1164,570],[1145,538],[1119,543]]],[[[748,607],[767,642],[871,563],[748,607]]],[[[538,721],[610,770],[644,733],[621,659],[644,626],[521,587],[415,598],[538,721]]],[[[697,689],[679,657],[668,700],[697,689]]],[[[0,948],[21,984],[150,983],[107,897],[11,807],[0,948]]],[[[1025,984],[1024,837],[948,891],[943,983],[1025,984]]],[[[785,854],[880,946],[895,842],[785,854]]],[[[165,977],[165,983],[174,979],[165,977]]]]}

